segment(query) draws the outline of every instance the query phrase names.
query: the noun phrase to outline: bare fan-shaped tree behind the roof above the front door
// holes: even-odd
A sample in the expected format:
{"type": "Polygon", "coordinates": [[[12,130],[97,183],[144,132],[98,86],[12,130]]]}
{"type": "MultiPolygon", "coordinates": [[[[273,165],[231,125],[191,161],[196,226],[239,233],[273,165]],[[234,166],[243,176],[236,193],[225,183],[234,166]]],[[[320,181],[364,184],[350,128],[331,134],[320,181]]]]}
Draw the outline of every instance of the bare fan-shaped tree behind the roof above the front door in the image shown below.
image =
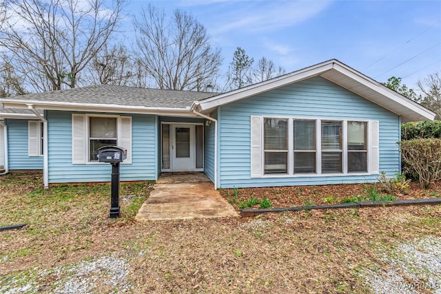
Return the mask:
{"type": "Polygon", "coordinates": [[[148,6],[134,23],[138,61],[156,87],[201,91],[218,75],[220,49],[191,14],[175,10],[166,21],[164,10],[148,6]]]}

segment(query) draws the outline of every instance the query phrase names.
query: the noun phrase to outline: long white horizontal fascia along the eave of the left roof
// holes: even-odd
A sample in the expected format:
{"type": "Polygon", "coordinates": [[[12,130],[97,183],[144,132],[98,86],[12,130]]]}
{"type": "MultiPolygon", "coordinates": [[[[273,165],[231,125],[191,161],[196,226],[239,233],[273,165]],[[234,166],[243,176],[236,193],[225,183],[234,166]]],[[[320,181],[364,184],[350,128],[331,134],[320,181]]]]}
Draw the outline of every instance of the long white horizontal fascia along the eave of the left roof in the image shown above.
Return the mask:
{"type": "Polygon", "coordinates": [[[65,103],[65,102],[46,102],[46,101],[17,101],[2,99],[4,107],[25,108],[32,105],[34,109],[63,110],[74,112],[109,112],[127,114],[156,114],[163,116],[183,116],[195,117],[196,115],[189,108],[169,108],[169,107],[144,107],[132,105],[114,104],[89,104],[89,103],[65,103]]]}

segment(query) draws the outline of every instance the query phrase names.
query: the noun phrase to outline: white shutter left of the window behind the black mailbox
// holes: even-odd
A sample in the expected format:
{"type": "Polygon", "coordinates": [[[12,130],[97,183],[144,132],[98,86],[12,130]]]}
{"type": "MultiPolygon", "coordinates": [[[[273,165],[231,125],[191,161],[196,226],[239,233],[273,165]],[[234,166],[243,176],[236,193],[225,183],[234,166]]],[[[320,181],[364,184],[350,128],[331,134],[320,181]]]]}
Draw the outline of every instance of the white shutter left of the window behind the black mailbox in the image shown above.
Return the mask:
{"type": "Polygon", "coordinates": [[[72,164],[81,165],[86,162],[85,115],[72,114],[72,164]]]}

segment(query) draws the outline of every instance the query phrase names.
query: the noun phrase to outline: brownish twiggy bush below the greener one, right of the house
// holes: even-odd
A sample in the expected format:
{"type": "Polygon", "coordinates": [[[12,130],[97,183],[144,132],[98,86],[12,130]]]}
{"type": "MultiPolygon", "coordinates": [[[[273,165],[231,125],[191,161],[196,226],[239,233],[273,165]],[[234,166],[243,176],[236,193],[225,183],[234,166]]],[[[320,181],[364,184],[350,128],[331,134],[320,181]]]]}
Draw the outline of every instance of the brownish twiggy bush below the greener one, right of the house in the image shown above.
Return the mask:
{"type": "Polygon", "coordinates": [[[441,180],[441,138],[402,140],[398,144],[403,162],[418,174],[423,189],[441,180]]]}

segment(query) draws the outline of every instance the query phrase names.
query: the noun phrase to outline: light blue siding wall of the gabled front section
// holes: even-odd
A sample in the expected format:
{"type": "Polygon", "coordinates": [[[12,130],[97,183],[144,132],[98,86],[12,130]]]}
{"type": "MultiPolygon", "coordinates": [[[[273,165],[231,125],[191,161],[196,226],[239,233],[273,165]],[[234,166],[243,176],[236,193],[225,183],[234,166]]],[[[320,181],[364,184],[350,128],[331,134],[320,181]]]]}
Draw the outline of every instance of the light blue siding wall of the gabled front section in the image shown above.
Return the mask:
{"type": "Polygon", "coordinates": [[[400,117],[325,78],[314,77],[218,108],[220,188],[376,181],[375,175],[252,178],[250,116],[378,120],[380,171],[393,176],[400,170],[400,154],[396,144],[400,138],[400,117]]]}

